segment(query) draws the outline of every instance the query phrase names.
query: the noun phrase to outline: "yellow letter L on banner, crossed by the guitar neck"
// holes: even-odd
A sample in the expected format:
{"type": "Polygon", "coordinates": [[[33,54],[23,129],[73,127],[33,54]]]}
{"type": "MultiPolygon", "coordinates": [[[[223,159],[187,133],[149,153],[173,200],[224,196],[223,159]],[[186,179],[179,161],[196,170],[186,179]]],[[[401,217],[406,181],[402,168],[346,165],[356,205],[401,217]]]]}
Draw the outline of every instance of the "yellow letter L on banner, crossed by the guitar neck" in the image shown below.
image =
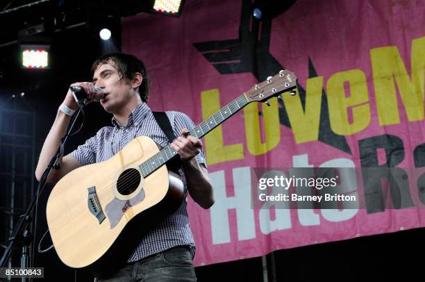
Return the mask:
{"type": "MultiPolygon", "coordinates": [[[[212,89],[201,92],[202,117],[207,119],[220,110],[219,90],[212,89]]],[[[206,158],[208,165],[223,163],[229,160],[244,158],[242,143],[224,145],[222,125],[217,126],[205,136],[206,158]]]]}

